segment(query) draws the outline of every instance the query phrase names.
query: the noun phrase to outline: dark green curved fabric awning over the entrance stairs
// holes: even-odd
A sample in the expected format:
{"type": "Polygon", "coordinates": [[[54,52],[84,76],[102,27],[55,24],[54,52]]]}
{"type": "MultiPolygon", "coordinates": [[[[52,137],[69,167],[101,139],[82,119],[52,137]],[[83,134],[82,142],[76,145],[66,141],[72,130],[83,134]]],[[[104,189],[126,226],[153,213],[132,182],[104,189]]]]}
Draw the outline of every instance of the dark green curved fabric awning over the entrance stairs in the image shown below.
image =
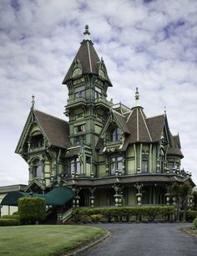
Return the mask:
{"type": "Polygon", "coordinates": [[[40,197],[46,200],[47,205],[63,205],[74,197],[73,190],[69,187],[53,187],[47,194],[30,195],[28,192],[8,192],[1,205],[17,206],[20,197],[40,197]]]}

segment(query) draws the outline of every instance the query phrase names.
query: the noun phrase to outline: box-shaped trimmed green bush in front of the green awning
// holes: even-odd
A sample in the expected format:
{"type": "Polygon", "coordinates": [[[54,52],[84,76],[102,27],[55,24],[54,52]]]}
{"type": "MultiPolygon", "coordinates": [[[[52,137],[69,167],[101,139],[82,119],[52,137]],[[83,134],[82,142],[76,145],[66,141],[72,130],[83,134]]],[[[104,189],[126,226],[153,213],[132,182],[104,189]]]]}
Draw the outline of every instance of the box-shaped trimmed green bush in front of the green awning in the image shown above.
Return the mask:
{"type": "Polygon", "coordinates": [[[39,197],[18,199],[18,212],[23,223],[36,223],[45,219],[46,203],[39,197]]]}

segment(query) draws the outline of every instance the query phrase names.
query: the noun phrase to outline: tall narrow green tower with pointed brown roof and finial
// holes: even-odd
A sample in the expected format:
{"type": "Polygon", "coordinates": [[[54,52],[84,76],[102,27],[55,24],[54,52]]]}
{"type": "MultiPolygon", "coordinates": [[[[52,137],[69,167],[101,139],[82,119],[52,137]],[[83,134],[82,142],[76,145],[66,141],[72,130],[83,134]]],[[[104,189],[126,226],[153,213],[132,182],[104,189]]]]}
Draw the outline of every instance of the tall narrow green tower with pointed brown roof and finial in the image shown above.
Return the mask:
{"type": "Polygon", "coordinates": [[[83,156],[83,171],[80,172],[87,175],[86,160],[91,163],[91,172],[95,170],[95,145],[111,106],[111,102],[107,100],[107,90],[112,84],[104,60],[98,58],[93,48],[88,25],[83,34],[83,41],[63,84],[68,86],[65,115],[69,119],[69,150],[80,149],[80,156],[83,156]]]}

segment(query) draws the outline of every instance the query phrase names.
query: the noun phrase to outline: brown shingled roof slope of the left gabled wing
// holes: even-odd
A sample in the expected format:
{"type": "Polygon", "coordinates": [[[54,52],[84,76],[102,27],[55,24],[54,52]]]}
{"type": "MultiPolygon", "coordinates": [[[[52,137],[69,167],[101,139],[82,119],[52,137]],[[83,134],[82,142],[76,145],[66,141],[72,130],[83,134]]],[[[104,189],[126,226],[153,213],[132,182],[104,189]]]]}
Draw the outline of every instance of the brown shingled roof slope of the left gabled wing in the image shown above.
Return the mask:
{"type": "Polygon", "coordinates": [[[68,139],[68,122],[39,110],[33,110],[41,129],[48,137],[51,145],[66,148],[70,144],[68,139]]]}

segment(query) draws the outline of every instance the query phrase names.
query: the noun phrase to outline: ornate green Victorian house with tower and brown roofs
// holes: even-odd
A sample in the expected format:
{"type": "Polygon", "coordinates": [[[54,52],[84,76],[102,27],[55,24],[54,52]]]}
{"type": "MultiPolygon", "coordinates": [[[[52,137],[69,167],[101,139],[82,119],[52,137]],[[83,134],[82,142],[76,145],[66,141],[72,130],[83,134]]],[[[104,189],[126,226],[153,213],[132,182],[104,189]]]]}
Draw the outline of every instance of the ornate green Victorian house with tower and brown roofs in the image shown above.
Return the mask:
{"type": "Polygon", "coordinates": [[[138,89],[131,95],[132,108],[107,99],[113,84],[93,48],[88,26],[63,84],[68,88],[68,121],[36,110],[33,99],[16,148],[29,166],[23,195],[48,195],[64,187],[54,193],[57,201],[48,199],[48,204],[164,205],[173,203],[169,186],[174,182],[194,187],[190,173],[181,170],[179,135],[171,134],[166,113],[147,117],[138,89]]]}

